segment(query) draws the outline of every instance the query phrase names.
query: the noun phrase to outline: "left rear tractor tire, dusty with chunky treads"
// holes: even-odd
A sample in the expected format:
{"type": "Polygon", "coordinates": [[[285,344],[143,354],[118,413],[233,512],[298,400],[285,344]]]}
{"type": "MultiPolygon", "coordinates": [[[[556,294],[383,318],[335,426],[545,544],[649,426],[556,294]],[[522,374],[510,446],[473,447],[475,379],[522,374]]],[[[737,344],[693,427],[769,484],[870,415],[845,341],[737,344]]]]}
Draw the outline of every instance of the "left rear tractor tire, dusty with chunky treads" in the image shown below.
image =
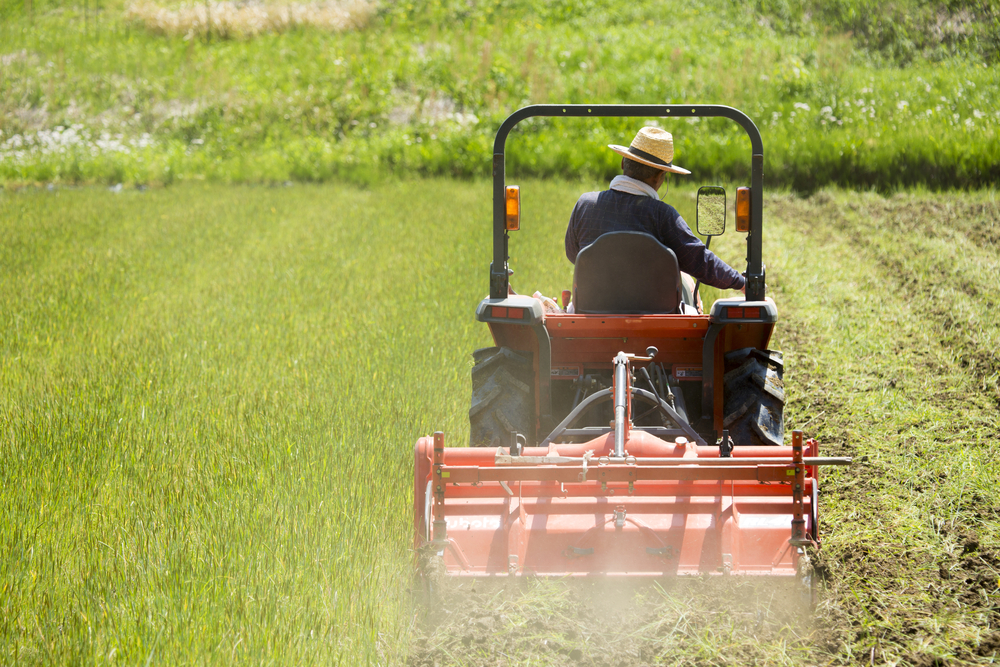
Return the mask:
{"type": "Polygon", "coordinates": [[[486,347],[472,353],[469,446],[507,447],[516,431],[535,437],[535,378],[530,352],[486,347]]]}

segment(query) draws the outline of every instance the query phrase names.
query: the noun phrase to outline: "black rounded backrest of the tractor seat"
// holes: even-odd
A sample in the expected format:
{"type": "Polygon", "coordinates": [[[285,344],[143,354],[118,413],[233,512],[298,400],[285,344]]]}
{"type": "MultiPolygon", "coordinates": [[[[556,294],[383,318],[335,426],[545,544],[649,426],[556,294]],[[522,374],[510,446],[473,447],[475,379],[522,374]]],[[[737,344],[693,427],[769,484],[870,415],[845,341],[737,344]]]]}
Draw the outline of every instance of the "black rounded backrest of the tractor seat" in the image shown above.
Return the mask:
{"type": "Polygon", "coordinates": [[[676,313],[680,303],[677,256],[649,234],[602,234],[576,257],[578,313],[676,313]]]}

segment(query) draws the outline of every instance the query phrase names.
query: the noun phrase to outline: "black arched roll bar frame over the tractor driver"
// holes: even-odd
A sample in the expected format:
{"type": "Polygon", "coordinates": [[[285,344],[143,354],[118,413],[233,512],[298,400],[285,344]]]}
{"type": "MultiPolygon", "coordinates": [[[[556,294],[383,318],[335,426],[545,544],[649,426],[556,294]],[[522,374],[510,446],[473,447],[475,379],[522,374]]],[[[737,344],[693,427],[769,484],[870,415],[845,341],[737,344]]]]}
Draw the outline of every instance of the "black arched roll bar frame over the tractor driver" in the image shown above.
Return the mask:
{"type": "Polygon", "coordinates": [[[750,117],[738,109],[719,104],[535,104],[518,109],[500,125],[493,143],[493,262],[490,264],[490,298],[507,297],[507,234],[504,176],[504,147],[507,135],[526,118],[537,116],[565,118],[690,118],[692,116],[728,118],[746,131],[752,151],[750,162],[750,233],[747,235],[748,301],[764,300],[764,264],[761,257],[762,210],[764,196],[764,144],[760,131],[750,117]]]}

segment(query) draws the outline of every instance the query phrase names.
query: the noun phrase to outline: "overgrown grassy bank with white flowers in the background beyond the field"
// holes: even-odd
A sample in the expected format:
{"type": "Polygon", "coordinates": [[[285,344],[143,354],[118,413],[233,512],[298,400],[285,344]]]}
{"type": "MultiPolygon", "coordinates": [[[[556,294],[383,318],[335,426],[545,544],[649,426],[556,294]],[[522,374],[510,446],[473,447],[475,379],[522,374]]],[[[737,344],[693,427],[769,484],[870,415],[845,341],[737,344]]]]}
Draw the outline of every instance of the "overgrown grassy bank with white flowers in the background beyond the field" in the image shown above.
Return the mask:
{"type": "MultiPolygon", "coordinates": [[[[866,7],[856,9],[875,12],[866,7]]],[[[985,23],[933,58],[897,62],[837,34],[847,23],[830,30],[800,12],[785,25],[769,5],[758,10],[724,0],[421,0],[386,3],[360,30],[240,40],[157,36],[111,4],[17,13],[0,26],[9,45],[0,180],[486,176],[497,126],[522,105],[688,101],[756,120],[770,184],[944,188],[1000,177],[1000,80],[980,48],[985,23]],[[74,127],[77,143],[46,143],[45,133],[74,127]],[[151,141],[110,150],[102,133],[151,141]]],[[[969,16],[974,26],[990,20],[969,16]]],[[[616,161],[606,144],[628,141],[642,122],[526,124],[511,137],[510,162],[522,174],[607,177],[616,161]]],[[[680,164],[706,179],[745,179],[749,147],[734,127],[656,122],[676,135],[680,164]]]]}

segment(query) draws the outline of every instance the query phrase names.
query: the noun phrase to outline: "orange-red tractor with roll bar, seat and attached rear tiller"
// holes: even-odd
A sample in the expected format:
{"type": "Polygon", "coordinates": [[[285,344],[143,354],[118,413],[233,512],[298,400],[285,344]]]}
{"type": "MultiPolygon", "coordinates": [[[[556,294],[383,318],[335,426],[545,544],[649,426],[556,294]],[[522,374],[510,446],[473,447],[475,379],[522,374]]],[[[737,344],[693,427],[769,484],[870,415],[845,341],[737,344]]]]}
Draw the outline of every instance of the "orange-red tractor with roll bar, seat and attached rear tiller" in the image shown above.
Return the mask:
{"type": "MultiPolygon", "coordinates": [[[[446,447],[440,432],[416,445],[414,546],[435,572],[808,578],[819,467],[850,460],[820,457],[800,431],[784,445],[783,360],[766,349],[777,309],[764,294],[762,164],[757,128],[729,107],[543,105],[504,122],[490,296],[477,309],[496,347],[474,355],[474,446],[446,447]],[[503,151],[531,116],[738,122],[753,149],[751,187],[736,198],[746,296],[719,299],[709,314],[685,309],[673,252],[634,232],[580,251],[576,312],[513,294],[507,248],[520,201],[503,151]]],[[[698,227],[709,238],[725,231],[721,188],[699,192],[698,227]]]]}

